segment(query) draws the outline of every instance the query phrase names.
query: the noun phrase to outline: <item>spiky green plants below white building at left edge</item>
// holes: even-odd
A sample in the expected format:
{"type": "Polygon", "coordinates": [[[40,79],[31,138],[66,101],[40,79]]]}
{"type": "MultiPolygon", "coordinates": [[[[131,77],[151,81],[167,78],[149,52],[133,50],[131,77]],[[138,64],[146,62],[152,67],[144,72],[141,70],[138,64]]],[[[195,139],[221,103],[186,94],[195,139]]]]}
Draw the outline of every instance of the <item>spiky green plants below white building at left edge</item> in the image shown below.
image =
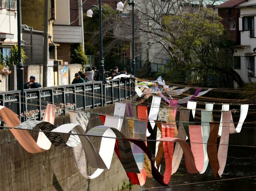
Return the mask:
{"type": "MultiPolygon", "coordinates": [[[[26,56],[25,54],[25,51],[24,49],[22,48],[21,49],[21,59],[22,59],[22,64],[25,63],[25,60],[28,59],[28,57],[26,56]]],[[[11,65],[12,62],[17,65],[18,63],[18,46],[17,45],[14,45],[11,50],[10,50],[10,56],[6,55],[4,56],[2,53],[1,53],[1,59],[0,59],[0,63],[3,65],[3,64],[6,64],[6,65],[11,65]]]]}

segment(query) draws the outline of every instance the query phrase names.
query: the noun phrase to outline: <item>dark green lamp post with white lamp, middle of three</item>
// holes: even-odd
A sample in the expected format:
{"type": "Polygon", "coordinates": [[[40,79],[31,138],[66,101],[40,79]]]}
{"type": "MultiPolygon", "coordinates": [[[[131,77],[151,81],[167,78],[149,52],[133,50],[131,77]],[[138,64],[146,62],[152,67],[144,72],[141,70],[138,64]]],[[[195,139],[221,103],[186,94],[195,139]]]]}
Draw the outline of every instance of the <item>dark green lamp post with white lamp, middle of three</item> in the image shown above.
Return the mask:
{"type": "Polygon", "coordinates": [[[103,41],[102,41],[102,8],[101,8],[101,0],[99,0],[99,7],[96,5],[92,5],[90,9],[87,11],[87,17],[93,17],[93,11],[91,8],[96,7],[99,10],[99,18],[100,18],[100,66],[99,66],[99,80],[104,83],[104,59],[103,59],[103,41]]]}

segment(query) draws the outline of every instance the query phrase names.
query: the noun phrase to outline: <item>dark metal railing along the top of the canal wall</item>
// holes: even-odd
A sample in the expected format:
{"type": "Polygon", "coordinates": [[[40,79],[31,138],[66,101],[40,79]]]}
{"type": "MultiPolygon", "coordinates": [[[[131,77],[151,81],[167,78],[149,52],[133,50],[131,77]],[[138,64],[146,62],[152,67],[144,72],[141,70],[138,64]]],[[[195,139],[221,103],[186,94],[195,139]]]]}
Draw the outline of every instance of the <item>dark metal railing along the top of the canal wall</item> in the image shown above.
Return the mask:
{"type": "Polygon", "coordinates": [[[23,96],[19,90],[0,92],[0,105],[15,112],[21,121],[42,120],[48,103],[57,106],[56,115],[66,115],[69,109],[94,108],[129,99],[135,94],[133,81],[127,78],[110,80],[110,84],[96,81],[25,89],[23,96]],[[21,111],[22,98],[24,98],[24,113],[21,111]]]}

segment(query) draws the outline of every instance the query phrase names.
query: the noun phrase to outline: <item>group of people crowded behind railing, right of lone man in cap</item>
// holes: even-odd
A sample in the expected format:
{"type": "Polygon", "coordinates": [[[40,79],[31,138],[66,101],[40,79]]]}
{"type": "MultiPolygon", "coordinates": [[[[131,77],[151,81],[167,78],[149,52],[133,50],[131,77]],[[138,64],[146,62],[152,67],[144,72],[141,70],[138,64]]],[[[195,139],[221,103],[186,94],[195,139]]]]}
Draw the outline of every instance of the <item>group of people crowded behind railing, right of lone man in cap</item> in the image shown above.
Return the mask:
{"type": "MultiPolygon", "coordinates": [[[[110,83],[109,80],[114,79],[115,76],[120,74],[127,75],[127,69],[123,68],[122,72],[118,72],[118,67],[114,67],[114,69],[110,70],[108,74],[106,74],[104,70],[105,83],[110,83]]],[[[72,84],[86,83],[86,82],[99,81],[99,80],[100,80],[100,77],[99,77],[99,72],[97,68],[89,67],[89,68],[86,68],[86,71],[84,73],[82,71],[75,73],[75,78],[72,81],[72,84]]]]}

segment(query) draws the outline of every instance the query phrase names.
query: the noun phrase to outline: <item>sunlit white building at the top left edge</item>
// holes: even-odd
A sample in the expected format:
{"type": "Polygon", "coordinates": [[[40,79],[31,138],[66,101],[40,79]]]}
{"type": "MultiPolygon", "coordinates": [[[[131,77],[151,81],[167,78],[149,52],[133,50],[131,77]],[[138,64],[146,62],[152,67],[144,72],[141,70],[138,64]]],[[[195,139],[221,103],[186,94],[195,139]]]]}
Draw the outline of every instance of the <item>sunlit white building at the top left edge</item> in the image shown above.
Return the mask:
{"type": "Polygon", "coordinates": [[[17,43],[17,1],[0,1],[0,57],[9,55],[10,48],[17,43]]]}

